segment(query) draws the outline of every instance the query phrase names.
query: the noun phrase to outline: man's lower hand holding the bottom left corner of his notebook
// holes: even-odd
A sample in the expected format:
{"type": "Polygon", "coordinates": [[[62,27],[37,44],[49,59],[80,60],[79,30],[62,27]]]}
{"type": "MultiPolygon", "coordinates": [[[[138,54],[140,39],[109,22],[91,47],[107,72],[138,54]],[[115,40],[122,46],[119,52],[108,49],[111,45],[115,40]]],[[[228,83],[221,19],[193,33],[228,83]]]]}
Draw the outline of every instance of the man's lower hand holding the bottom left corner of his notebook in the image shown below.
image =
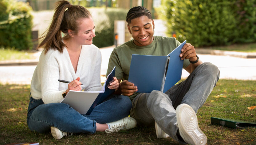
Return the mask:
{"type": "Polygon", "coordinates": [[[121,94],[123,94],[124,96],[131,96],[134,92],[138,91],[137,86],[134,86],[133,83],[128,82],[127,80],[119,83],[119,89],[121,91],[121,94]]]}

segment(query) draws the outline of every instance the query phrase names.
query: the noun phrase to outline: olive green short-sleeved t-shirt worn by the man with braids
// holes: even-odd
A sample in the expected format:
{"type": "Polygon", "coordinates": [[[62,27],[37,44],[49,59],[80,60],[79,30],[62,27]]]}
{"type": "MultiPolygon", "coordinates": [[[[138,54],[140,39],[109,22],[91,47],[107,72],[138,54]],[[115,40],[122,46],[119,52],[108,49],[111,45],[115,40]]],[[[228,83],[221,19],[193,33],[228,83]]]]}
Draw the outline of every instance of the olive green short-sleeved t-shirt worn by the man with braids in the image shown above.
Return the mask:
{"type": "MultiPolygon", "coordinates": [[[[181,43],[175,38],[154,36],[154,40],[148,46],[137,46],[130,40],[120,46],[117,46],[112,51],[109,61],[107,75],[112,71],[114,66],[116,66],[115,76],[117,79],[128,80],[130,64],[132,59],[132,54],[140,55],[168,55],[181,43]]],[[[188,59],[184,60],[183,68],[190,65],[188,59]]],[[[133,100],[139,93],[134,93],[129,96],[133,100]]]]}

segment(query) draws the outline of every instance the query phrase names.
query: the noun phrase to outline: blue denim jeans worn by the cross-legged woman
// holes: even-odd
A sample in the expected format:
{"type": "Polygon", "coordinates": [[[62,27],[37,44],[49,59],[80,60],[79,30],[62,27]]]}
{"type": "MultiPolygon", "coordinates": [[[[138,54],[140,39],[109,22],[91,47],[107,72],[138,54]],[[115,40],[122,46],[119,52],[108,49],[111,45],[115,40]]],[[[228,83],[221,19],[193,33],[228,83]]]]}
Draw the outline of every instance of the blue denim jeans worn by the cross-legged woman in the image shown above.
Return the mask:
{"type": "Polygon", "coordinates": [[[44,104],[42,99],[30,96],[27,124],[30,130],[49,132],[54,126],[63,132],[81,132],[93,134],[97,123],[109,123],[129,115],[132,107],[131,100],[123,95],[111,95],[97,105],[90,115],[80,114],[68,104],[44,104]]]}

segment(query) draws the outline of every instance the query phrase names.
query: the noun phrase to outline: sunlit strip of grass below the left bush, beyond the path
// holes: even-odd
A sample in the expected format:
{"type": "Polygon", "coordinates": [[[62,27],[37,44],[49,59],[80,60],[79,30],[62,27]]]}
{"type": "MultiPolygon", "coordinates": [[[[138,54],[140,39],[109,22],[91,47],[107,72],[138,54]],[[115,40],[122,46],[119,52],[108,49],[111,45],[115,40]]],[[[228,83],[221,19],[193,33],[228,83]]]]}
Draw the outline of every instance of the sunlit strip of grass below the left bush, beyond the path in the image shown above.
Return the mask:
{"type": "Polygon", "coordinates": [[[31,50],[18,51],[13,49],[0,48],[0,61],[14,59],[34,59],[31,50]]]}

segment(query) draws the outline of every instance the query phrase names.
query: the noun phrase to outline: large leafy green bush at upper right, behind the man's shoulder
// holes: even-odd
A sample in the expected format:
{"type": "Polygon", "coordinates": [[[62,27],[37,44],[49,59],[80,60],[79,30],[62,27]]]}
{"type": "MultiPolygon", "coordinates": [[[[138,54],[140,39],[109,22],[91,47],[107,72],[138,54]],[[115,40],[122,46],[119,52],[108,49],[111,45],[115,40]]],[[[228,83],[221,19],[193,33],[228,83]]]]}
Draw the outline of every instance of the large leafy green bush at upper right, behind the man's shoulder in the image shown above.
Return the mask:
{"type": "Polygon", "coordinates": [[[168,34],[175,32],[181,42],[186,39],[194,46],[214,46],[256,40],[255,0],[162,2],[168,34]]]}

